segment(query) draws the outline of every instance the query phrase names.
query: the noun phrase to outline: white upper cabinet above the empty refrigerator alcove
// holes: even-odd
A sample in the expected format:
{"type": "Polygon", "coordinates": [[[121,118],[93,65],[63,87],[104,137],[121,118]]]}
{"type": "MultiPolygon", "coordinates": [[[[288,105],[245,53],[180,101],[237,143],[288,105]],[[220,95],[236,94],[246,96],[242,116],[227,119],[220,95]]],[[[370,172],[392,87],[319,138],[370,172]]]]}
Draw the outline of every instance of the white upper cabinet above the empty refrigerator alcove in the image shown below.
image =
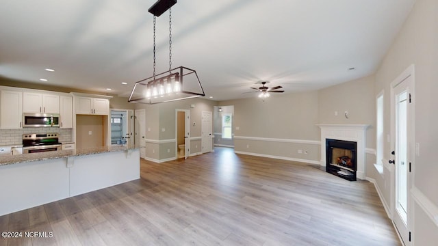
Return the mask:
{"type": "Polygon", "coordinates": [[[75,100],[76,100],[77,114],[95,114],[95,115],[110,114],[110,100],[106,98],[76,96],[75,100]]]}

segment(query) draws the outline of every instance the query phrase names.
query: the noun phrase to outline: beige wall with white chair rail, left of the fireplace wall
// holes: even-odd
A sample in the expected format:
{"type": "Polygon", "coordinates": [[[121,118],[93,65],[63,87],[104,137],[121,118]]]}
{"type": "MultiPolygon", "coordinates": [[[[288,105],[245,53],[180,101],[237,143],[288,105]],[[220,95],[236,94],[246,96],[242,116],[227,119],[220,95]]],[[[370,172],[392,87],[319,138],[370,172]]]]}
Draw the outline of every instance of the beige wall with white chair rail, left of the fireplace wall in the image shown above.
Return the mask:
{"type": "Polygon", "coordinates": [[[234,106],[236,152],[319,163],[318,92],[275,94],[264,102],[257,97],[227,100],[220,105],[234,106]]]}

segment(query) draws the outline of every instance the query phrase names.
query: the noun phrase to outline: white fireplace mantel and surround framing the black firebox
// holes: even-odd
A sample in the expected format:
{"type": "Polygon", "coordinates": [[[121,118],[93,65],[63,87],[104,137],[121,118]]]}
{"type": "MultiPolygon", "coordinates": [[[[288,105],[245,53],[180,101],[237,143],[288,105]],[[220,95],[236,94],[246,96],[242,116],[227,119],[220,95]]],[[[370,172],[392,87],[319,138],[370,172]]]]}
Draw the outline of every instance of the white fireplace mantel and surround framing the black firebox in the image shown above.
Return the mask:
{"type": "Polygon", "coordinates": [[[367,124],[318,124],[321,128],[321,160],[320,165],[326,166],[326,139],[355,141],[357,143],[356,176],[365,179],[365,146],[367,124]]]}

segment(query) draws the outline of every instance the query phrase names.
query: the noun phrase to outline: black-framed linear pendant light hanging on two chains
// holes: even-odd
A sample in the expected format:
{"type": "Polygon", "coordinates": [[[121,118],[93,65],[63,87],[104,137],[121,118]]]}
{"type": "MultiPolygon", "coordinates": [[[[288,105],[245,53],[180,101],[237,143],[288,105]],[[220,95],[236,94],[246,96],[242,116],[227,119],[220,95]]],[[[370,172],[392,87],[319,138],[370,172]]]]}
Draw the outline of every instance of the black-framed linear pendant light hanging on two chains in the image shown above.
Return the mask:
{"type": "Polygon", "coordinates": [[[159,0],[149,12],[153,14],[153,76],[134,85],[129,102],[155,104],[205,96],[195,70],[179,66],[172,68],[172,5],[177,0],[159,0]],[[169,10],[169,70],[155,74],[155,25],[156,18],[169,10]]]}

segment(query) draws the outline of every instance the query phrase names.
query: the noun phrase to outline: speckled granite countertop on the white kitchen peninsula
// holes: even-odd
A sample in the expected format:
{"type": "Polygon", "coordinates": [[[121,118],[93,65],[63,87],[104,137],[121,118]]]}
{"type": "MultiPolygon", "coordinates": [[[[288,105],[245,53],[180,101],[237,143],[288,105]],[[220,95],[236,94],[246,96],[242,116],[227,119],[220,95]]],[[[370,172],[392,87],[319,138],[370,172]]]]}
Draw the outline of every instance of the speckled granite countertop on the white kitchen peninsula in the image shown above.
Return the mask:
{"type": "Polygon", "coordinates": [[[118,152],[126,150],[136,150],[143,148],[141,146],[129,146],[129,145],[112,145],[96,148],[86,148],[78,150],[57,150],[48,152],[39,152],[31,154],[16,154],[16,155],[3,155],[0,156],[0,166],[10,165],[16,163],[26,163],[31,161],[44,161],[50,159],[66,158],[70,156],[84,156],[88,154],[101,154],[107,152],[118,152]]]}

